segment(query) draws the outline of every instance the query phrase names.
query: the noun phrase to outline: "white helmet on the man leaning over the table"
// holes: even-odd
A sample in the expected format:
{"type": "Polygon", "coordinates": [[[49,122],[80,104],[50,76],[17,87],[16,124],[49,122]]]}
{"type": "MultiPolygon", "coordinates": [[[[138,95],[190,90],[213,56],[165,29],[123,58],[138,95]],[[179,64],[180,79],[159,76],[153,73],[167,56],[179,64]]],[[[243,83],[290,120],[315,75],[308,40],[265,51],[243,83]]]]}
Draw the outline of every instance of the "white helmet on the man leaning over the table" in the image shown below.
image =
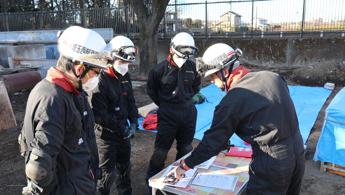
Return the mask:
{"type": "Polygon", "coordinates": [[[232,65],[230,72],[239,66],[238,58],[242,55],[242,51],[237,48],[233,50],[229,45],[224,43],[216,43],[208,47],[203,53],[202,58],[196,58],[196,69],[200,75],[204,77],[232,65]]]}

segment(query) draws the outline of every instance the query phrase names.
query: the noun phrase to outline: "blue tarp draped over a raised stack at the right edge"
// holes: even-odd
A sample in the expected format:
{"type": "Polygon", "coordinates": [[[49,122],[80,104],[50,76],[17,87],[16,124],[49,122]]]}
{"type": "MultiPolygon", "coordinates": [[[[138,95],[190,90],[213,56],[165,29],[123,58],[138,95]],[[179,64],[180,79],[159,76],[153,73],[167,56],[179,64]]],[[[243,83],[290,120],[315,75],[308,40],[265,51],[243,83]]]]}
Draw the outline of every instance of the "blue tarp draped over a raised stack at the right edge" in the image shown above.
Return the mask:
{"type": "Polygon", "coordinates": [[[345,166],[345,88],[329,103],[324,118],[313,159],[345,166]]]}

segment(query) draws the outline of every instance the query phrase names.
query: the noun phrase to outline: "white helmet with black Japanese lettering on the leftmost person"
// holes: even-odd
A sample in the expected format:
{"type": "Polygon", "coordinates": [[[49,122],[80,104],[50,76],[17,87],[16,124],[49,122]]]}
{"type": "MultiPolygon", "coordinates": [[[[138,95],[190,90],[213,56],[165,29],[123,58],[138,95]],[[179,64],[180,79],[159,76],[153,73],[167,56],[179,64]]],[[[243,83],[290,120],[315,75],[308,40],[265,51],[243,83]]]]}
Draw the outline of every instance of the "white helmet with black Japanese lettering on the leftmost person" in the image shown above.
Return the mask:
{"type": "Polygon", "coordinates": [[[80,26],[70,26],[57,32],[58,51],[68,59],[79,63],[108,69],[106,43],[95,31],[80,26]]]}

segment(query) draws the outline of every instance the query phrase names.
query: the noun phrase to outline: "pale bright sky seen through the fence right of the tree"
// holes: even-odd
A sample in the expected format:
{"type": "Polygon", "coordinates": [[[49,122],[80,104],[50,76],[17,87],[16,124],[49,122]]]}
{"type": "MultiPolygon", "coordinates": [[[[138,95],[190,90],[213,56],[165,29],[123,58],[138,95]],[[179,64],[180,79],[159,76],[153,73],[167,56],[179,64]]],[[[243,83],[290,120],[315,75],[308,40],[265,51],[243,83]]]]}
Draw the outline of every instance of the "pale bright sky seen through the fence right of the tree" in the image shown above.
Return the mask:
{"type": "MultiPolygon", "coordinates": [[[[241,20],[249,22],[253,18],[265,18],[268,23],[300,22],[303,16],[304,0],[228,0],[227,3],[211,3],[224,0],[207,0],[207,20],[219,20],[219,16],[226,11],[240,14],[241,20]]],[[[345,19],[345,0],[305,0],[305,21],[322,18],[323,22],[345,19]]],[[[200,5],[183,5],[179,18],[205,19],[205,1],[177,0],[177,3],[196,3],[200,5]]],[[[170,0],[169,4],[173,4],[170,0]]],[[[173,8],[174,6],[172,6],[173,8]]]]}

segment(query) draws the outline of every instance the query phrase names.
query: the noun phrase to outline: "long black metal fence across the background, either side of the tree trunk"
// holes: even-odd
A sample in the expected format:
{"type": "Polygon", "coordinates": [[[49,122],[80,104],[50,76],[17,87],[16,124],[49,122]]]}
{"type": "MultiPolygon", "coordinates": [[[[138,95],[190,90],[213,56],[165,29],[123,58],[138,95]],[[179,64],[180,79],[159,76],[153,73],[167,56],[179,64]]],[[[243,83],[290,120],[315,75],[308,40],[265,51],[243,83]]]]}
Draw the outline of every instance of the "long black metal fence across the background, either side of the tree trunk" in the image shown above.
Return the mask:
{"type": "MultiPolygon", "coordinates": [[[[185,31],[194,38],[344,36],[344,0],[227,0],[169,4],[158,39],[185,31]]],[[[112,28],[138,38],[133,8],[112,7],[0,14],[0,31],[112,28]]]]}

